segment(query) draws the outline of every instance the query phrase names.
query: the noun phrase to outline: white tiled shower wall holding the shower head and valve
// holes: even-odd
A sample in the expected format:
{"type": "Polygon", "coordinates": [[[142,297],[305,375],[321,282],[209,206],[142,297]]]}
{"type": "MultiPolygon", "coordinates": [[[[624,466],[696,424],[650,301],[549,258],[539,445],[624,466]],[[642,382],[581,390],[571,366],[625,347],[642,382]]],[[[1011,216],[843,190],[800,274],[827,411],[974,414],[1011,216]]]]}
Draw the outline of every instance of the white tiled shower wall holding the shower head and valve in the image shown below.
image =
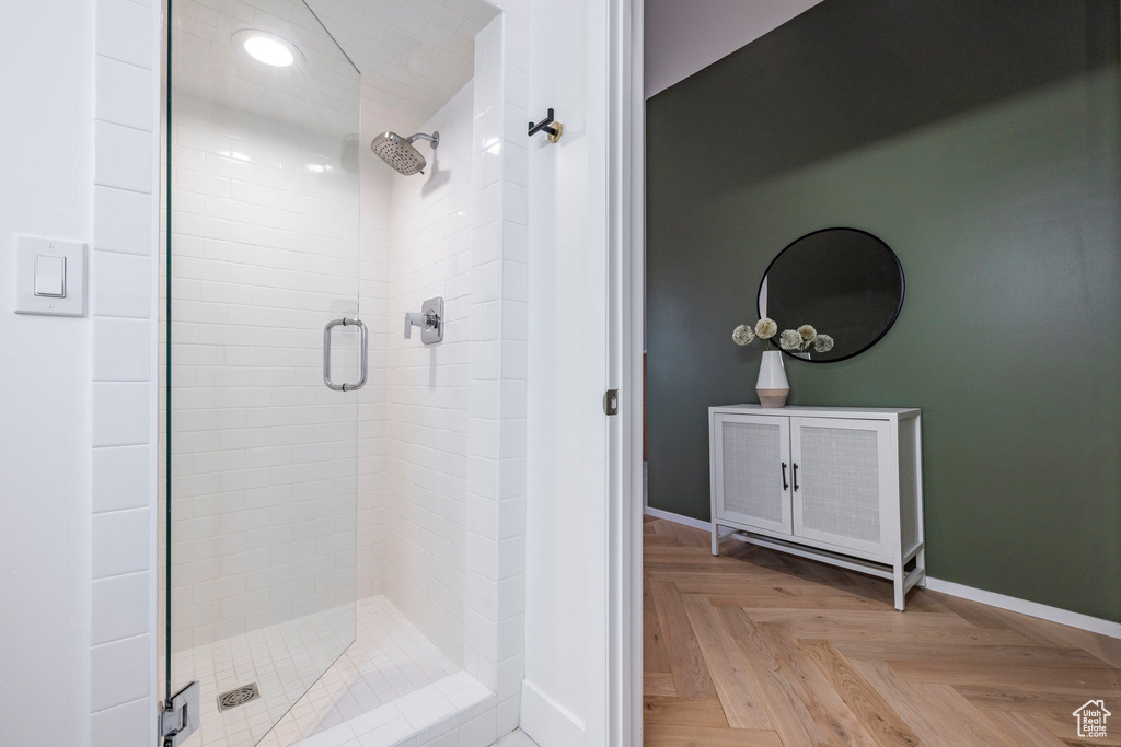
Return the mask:
{"type": "MultiPolygon", "coordinates": [[[[441,131],[435,169],[400,177],[364,151],[362,172],[361,307],[379,321],[361,393],[359,594],[385,589],[497,690],[488,716],[497,734],[518,725],[525,671],[528,46],[519,10],[476,35],[472,84],[419,128],[441,131]],[[405,340],[405,311],[435,295],[447,304],[444,343],[425,347],[416,330],[405,340]]],[[[363,141],[397,125],[378,99],[363,87],[363,141]]]]}

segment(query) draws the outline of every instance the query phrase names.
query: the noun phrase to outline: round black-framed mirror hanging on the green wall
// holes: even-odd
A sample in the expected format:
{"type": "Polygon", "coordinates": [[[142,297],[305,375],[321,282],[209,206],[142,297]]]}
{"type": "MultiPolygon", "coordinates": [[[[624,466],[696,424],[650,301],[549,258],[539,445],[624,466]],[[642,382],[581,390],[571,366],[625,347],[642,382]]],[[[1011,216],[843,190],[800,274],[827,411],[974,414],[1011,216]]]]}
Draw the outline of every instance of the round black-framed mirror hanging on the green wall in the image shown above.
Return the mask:
{"type": "Polygon", "coordinates": [[[824,228],[798,239],[776,256],[759,283],[759,318],[779,329],[813,325],[833,348],[789,353],[813,363],[863,353],[895,323],[904,305],[899,258],[870,233],[824,228]]]}

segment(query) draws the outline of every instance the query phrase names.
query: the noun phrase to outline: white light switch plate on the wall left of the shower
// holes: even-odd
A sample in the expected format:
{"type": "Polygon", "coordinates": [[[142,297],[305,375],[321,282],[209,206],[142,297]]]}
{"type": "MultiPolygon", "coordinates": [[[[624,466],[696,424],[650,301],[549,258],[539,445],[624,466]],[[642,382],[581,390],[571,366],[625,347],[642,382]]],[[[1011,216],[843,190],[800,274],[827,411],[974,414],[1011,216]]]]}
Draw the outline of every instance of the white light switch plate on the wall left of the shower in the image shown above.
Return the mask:
{"type": "MultiPolygon", "coordinates": [[[[40,279],[40,290],[46,289],[40,279]]],[[[16,314],[45,314],[62,317],[85,316],[85,244],[41,236],[16,236],[16,314]],[[39,258],[61,258],[65,272],[65,296],[37,296],[37,268],[57,268],[58,262],[39,258]]]]}

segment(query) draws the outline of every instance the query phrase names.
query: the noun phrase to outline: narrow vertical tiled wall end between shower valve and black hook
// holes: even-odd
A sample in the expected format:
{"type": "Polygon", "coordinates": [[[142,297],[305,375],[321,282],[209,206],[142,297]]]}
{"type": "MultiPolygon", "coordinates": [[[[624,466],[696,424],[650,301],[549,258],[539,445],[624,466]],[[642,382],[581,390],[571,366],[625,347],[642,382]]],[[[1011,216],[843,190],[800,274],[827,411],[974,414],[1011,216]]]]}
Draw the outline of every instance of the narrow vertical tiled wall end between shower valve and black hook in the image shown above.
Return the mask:
{"type": "Polygon", "coordinates": [[[511,3],[475,43],[465,669],[498,693],[498,735],[518,725],[525,673],[526,10],[511,3]]]}

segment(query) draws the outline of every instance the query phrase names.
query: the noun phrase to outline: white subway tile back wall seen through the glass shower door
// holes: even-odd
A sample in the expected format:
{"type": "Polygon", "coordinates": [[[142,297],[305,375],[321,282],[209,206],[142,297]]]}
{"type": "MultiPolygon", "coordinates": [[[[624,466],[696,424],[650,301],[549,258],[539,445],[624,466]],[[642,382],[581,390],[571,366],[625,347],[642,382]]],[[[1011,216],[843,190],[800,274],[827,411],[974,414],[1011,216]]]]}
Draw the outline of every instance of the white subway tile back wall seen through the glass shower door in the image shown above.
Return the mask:
{"type": "MultiPolygon", "coordinates": [[[[180,651],[353,600],[358,396],[324,386],[323,327],[358,312],[359,215],[356,176],[339,159],[345,133],[297,137],[277,122],[175,104],[180,651]],[[217,152],[185,144],[212,136],[217,152]]],[[[356,381],[353,332],[336,329],[333,342],[333,379],[356,381]]]]}

